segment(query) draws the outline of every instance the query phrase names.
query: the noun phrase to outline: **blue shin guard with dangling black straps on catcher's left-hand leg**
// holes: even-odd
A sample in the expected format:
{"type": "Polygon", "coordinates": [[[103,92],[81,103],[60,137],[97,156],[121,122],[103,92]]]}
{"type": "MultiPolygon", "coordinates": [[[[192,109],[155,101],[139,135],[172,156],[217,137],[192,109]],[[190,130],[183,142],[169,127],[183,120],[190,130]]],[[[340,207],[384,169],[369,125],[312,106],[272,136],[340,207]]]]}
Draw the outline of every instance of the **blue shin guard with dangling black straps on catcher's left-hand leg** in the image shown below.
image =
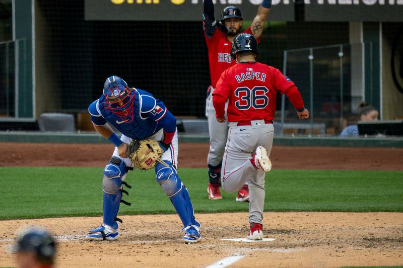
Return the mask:
{"type": "Polygon", "coordinates": [[[113,229],[118,228],[116,216],[119,212],[120,203],[130,205],[130,203],[122,200],[122,193],[127,194],[127,192],[122,189],[122,181],[126,176],[126,172],[124,161],[116,157],[112,157],[104,168],[104,178],[102,182],[102,190],[104,192],[103,223],[111,226],[113,229]]]}

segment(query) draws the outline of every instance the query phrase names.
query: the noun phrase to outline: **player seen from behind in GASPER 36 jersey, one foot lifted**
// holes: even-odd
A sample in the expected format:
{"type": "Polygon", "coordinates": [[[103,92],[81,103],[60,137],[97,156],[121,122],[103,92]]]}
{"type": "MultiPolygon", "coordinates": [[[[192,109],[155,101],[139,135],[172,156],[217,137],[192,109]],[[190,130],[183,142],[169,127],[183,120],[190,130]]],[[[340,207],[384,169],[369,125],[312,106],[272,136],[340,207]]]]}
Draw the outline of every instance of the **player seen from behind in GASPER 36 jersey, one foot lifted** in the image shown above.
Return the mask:
{"type": "Polygon", "coordinates": [[[248,239],[263,238],[264,175],[272,168],[272,150],[277,92],[285,94],[297,109],[299,119],[309,118],[295,84],[280,70],[256,61],[257,40],[251,34],[235,37],[231,57],[237,64],[225,70],[213,93],[219,123],[225,123],[228,100],[228,140],[222,164],[222,187],[229,193],[249,185],[248,239]]]}

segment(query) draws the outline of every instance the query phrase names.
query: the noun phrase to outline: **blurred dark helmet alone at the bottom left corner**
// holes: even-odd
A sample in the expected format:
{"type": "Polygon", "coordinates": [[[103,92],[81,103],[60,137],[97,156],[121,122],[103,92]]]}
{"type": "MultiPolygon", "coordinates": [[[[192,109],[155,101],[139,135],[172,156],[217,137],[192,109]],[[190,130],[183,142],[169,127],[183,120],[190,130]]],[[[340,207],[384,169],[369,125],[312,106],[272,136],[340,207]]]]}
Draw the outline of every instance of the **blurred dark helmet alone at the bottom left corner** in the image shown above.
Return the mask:
{"type": "Polygon", "coordinates": [[[44,228],[30,226],[19,231],[12,252],[32,253],[38,259],[51,263],[56,254],[56,243],[44,228]]]}

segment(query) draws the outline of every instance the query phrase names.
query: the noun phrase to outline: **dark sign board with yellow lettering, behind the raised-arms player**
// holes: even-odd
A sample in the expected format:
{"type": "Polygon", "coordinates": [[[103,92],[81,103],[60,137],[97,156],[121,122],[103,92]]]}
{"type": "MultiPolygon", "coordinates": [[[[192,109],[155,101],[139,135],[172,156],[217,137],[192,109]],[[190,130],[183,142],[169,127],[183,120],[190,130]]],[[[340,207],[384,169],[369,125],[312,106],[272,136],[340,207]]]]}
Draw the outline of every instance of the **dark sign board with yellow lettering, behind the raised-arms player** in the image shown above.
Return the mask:
{"type": "MultiPolygon", "coordinates": [[[[244,20],[253,20],[262,0],[213,0],[216,19],[228,6],[241,9],[244,20]]],[[[271,21],[294,21],[293,0],[273,0],[271,21]]],[[[90,21],[201,21],[203,0],[85,0],[90,21]]]]}

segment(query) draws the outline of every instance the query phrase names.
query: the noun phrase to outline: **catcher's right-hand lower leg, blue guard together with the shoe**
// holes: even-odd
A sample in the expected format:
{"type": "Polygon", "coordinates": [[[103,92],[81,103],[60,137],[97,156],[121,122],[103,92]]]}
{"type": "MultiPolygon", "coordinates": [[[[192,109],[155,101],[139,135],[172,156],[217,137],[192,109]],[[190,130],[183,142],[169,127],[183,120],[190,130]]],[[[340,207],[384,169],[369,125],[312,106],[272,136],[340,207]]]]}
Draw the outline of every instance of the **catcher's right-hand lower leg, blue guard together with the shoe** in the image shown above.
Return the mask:
{"type": "Polygon", "coordinates": [[[183,241],[185,243],[194,243],[200,240],[200,223],[194,218],[193,206],[190,201],[189,193],[183,185],[175,168],[168,161],[169,167],[158,163],[155,167],[157,183],[161,185],[164,193],[169,197],[180,220],[183,223],[182,231],[185,231],[183,241]]]}

